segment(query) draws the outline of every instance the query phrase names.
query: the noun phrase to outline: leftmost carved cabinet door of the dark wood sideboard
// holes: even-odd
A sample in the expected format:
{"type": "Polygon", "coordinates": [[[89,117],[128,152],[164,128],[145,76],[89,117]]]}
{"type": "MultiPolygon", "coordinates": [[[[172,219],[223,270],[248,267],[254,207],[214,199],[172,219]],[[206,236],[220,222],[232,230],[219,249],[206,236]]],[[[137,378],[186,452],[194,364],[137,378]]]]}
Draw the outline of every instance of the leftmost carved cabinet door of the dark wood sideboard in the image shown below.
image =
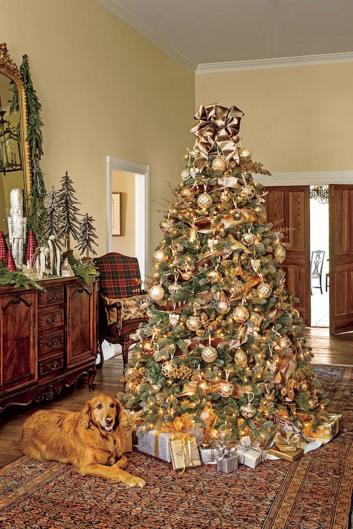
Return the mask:
{"type": "Polygon", "coordinates": [[[14,389],[37,380],[35,361],[37,292],[3,296],[1,308],[0,389],[14,389]]]}

